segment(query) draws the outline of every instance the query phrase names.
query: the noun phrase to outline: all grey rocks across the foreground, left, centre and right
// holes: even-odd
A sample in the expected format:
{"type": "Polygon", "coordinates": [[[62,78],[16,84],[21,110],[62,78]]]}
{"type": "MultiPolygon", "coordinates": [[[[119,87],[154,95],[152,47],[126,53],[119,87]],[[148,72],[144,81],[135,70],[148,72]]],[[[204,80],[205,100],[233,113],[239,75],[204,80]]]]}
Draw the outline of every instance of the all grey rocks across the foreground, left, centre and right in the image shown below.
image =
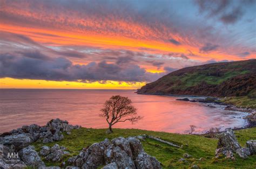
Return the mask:
{"type": "MultiPolygon", "coordinates": [[[[159,161],[147,154],[140,140],[146,138],[162,142],[175,149],[184,149],[183,146],[167,142],[158,137],[139,135],[137,137],[118,137],[112,140],[105,139],[103,142],[94,143],[85,147],[76,156],[71,156],[69,150],[63,146],[55,144],[53,146],[42,146],[38,151],[31,144],[38,139],[41,143],[56,142],[64,138],[63,132],[70,134],[79,129],[78,125],[70,125],[67,121],[52,119],[45,126],[32,124],[23,126],[17,130],[3,133],[0,136],[0,152],[3,160],[0,160],[0,167],[3,168],[161,168],[159,161]],[[72,130],[73,129],[73,130],[72,130]],[[8,157],[8,153],[15,153],[17,157],[8,157]],[[63,157],[70,157],[63,161],[63,157]],[[59,162],[59,166],[46,167],[44,161],[49,163],[59,162]]],[[[256,140],[248,140],[246,147],[241,147],[230,129],[218,135],[219,142],[215,151],[215,158],[225,157],[246,159],[248,156],[256,154],[256,140]]],[[[180,158],[180,163],[186,163],[192,158],[190,154],[184,153],[180,158]]],[[[0,158],[1,159],[1,158],[0,158]]],[[[204,160],[200,158],[199,160],[204,160]]],[[[193,165],[193,168],[199,168],[193,165]]]]}

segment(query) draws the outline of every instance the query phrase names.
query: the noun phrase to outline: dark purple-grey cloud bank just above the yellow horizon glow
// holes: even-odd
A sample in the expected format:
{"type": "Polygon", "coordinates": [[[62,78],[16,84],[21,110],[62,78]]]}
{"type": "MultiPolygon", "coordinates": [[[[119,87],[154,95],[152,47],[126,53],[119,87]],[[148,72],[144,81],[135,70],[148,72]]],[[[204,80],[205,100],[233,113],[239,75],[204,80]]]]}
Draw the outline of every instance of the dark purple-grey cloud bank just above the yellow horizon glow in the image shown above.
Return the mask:
{"type": "Polygon", "coordinates": [[[146,72],[138,65],[120,66],[107,64],[106,61],[90,62],[87,65],[73,65],[65,58],[48,58],[41,53],[22,53],[23,57],[13,54],[0,55],[0,78],[39,79],[54,81],[154,81],[159,73],[146,72]],[[38,56],[38,57],[36,57],[38,56]],[[43,57],[42,57],[43,56],[43,57]]]}

